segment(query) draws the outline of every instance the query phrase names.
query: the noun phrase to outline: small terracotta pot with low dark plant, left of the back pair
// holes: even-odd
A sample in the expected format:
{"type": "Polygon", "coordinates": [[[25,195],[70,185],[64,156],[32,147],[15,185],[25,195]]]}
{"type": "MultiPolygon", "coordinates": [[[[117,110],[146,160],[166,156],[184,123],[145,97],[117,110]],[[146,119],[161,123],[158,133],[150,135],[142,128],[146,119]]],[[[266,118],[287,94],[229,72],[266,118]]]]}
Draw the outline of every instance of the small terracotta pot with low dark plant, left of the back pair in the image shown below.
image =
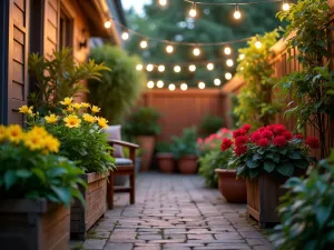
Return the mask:
{"type": "Polygon", "coordinates": [[[169,143],[159,143],[156,154],[157,164],[161,172],[171,173],[175,170],[175,159],[169,143]]]}

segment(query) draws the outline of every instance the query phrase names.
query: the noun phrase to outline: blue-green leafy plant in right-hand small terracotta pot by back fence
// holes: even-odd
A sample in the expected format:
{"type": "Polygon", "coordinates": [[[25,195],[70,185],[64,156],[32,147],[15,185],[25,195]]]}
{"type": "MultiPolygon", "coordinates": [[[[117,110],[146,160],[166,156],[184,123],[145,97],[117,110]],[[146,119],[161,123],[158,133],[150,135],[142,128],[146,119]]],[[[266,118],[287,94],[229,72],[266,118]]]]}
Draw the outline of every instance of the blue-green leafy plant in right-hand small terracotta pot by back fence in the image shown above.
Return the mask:
{"type": "Polygon", "coordinates": [[[184,156],[197,154],[197,132],[196,128],[184,129],[181,137],[173,137],[171,153],[176,159],[184,156]]]}

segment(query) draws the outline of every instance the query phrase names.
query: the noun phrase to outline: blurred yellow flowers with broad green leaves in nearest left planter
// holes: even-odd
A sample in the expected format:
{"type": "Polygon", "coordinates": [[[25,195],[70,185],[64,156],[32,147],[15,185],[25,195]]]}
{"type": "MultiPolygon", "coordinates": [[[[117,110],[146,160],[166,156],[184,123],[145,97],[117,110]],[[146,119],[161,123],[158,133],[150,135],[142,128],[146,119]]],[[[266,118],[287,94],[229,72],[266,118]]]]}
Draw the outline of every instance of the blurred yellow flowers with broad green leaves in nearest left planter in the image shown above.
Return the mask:
{"type": "Polygon", "coordinates": [[[86,187],[76,162],[56,156],[60,142],[42,127],[22,131],[20,126],[0,126],[0,196],[40,199],[70,206],[86,187]]]}

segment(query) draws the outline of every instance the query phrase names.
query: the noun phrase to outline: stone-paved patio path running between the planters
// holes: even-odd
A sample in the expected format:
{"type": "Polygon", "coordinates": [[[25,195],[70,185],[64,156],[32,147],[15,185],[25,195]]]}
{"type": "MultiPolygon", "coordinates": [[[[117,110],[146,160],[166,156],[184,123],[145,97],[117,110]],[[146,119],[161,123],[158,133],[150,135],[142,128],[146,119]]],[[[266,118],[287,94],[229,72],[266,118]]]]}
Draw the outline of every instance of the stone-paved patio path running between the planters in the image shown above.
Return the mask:
{"type": "Polygon", "coordinates": [[[87,240],[85,250],[269,250],[271,242],[246,219],[246,204],[227,203],[198,176],[145,173],[137,178],[136,204],[118,194],[87,240]]]}

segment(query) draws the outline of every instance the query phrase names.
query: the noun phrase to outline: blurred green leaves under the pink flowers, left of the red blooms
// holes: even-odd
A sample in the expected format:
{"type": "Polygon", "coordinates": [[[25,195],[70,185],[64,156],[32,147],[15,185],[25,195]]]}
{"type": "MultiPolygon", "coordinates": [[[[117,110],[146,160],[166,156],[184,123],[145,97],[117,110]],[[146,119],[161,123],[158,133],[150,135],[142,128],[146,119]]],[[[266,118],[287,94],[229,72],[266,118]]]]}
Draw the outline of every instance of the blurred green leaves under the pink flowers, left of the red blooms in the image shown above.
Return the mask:
{"type": "Polygon", "coordinates": [[[204,177],[207,187],[218,187],[218,176],[215,173],[215,169],[227,169],[230,157],[230,151],[222,152],[216,149],[199,158],[199,174],[204,177]]]}

